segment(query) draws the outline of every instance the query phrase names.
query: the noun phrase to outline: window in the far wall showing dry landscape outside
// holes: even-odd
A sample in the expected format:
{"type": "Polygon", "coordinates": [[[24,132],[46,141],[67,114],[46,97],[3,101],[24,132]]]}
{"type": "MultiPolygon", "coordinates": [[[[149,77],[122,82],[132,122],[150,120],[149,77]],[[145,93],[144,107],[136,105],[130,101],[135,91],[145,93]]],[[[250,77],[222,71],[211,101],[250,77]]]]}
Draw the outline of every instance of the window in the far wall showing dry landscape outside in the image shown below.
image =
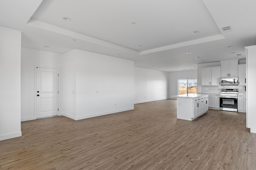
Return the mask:
{"type": "Polygon", "coordinates": [[[196,94],[197,79],[179,80],[179,94],[196,94]]]}

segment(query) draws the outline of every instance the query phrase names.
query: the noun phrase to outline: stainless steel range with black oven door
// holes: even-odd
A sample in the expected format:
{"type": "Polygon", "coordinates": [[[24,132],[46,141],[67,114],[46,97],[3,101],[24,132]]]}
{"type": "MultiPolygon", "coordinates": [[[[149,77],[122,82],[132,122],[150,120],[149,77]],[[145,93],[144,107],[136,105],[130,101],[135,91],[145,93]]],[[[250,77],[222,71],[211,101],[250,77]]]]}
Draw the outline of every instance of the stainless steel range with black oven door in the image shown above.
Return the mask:
{"type": "Polygon", "coordinates": [[[221,89],[220,110],[237,111],[238,89],[221,89]]]}

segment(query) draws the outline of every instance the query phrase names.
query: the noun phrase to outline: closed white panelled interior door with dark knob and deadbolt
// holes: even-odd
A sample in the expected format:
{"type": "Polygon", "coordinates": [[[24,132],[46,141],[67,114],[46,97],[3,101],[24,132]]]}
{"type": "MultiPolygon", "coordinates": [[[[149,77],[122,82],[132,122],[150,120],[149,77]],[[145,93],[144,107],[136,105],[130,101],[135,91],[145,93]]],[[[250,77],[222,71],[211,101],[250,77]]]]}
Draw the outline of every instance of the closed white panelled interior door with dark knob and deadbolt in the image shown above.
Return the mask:
{"type": "Polygon", "coordinates": [[[58,69],[36,68],[36,118],[58,115],[58,69]]]}

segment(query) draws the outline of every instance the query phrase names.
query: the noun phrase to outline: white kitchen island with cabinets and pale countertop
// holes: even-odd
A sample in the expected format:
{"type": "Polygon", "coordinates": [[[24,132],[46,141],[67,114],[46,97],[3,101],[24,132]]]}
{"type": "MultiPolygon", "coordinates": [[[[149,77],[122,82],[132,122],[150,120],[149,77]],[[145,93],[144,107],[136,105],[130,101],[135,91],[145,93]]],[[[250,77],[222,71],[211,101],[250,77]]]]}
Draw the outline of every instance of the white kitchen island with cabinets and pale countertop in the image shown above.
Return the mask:
{"type": "Polygon", "coordinates": [[[208,110],[208,94],[181,94],[177,96],[177,118],[194,120],[208,110]]]}

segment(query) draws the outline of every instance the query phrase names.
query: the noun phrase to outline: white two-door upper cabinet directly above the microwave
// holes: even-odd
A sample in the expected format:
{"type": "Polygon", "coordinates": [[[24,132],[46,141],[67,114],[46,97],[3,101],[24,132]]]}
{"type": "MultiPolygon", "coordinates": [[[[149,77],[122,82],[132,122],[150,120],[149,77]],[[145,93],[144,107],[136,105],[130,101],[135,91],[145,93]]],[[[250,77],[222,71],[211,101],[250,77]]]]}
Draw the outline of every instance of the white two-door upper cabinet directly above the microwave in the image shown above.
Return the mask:
{"type": "Polygon", "coordinates": [[[221,77],[238,76],[238,60],[220,61],[221,77]]]}

